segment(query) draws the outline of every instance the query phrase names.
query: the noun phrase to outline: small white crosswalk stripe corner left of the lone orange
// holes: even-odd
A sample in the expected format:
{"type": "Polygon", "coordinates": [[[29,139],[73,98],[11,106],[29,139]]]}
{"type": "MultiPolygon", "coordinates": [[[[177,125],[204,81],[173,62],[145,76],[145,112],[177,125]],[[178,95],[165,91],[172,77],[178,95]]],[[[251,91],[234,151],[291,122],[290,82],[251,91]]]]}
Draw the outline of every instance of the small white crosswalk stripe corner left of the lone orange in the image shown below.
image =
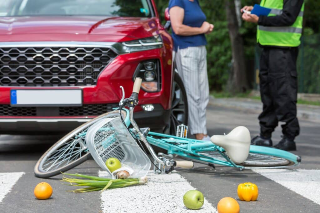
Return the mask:
{"type": "Polygon", "coordinates": [[[24,172],[3,172],[0,173],[0,202],[8,194],[14,184],[24,175],[24,172]]]}

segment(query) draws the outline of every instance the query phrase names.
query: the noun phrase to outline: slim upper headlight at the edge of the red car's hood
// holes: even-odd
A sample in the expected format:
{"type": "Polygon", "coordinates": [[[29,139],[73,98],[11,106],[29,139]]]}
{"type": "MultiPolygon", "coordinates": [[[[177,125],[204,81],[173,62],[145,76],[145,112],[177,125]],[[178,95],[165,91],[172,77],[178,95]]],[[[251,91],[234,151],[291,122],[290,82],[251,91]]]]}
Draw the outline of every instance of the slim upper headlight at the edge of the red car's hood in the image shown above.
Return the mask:
{"type": "Polygon", "coordinates": [[[155,35],[148,38],[133,40],[129,42],[116,43],[114,48],[120,53],[131,53],[149,49],[157,49],[163,46],[162,38],[160,35],[155,35]]]}

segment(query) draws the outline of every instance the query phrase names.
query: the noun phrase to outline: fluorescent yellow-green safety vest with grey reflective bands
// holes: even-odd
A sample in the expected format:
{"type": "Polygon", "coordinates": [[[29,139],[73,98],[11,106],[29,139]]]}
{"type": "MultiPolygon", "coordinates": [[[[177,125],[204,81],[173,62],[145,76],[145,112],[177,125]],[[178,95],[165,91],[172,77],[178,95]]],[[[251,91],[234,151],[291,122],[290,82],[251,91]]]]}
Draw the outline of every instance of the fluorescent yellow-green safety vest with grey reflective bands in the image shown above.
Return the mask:
{"type": "MultiPolygon", "coordinates": [[[[260,6],[271,9],[268,16],[280,15],[283,10],[283,0],[261,0],[260,6]]],[[[302,34],[304,3],[301,11],[291,26],[267,27],[258,25],[257,42],[266,46],[298,47],[302,34]]]]}

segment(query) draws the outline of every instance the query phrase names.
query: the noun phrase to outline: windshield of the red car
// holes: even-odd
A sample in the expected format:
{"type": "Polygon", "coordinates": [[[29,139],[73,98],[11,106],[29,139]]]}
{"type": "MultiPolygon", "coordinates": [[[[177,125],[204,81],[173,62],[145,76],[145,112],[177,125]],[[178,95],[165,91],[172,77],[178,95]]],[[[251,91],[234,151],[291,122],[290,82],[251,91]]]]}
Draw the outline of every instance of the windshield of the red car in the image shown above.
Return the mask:
{"type": "Polygon", "coordinates": [[[125,16],[150,17],[149,0],[0,0],[0,17],[125,16]]]}

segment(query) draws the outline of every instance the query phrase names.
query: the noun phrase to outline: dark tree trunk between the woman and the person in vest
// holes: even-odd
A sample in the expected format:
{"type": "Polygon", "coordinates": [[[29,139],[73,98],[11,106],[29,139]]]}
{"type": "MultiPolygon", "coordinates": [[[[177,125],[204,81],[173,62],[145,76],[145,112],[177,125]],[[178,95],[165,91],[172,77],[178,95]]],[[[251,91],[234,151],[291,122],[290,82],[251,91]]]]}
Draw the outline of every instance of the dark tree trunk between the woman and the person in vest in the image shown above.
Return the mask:
{"type": "Polygon", "coordinates": [[[227,90],[232,93],[245,92],[249,88],[249,83],[245,66],[243,39],[239,34],[234,0],[225,0],[225,7],[232,49],[232,68],[227,90]]]}

